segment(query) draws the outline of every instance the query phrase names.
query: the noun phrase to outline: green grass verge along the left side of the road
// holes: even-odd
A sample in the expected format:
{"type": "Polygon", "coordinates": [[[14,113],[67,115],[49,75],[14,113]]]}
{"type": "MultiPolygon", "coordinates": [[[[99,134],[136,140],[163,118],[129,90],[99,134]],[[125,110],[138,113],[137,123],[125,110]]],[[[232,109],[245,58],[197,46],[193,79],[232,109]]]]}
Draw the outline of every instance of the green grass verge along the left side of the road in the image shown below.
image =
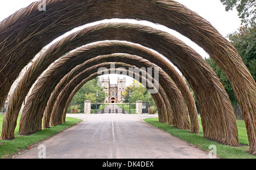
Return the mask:
{"type": "MultiPolygon", "coordinates": [[[[24,136],[18,135],[18,127],[15,129],[15,139],[13,141],[0,140],[0,158],[3,156],[15,154],[19,150],[26,149],[28,146],[40,142],[43,139],[49,138],[52,135],[59,133],[60,131],[67,129],[73,125],[76,125],[81,120],[72,117],[66,117],[66,122],[61,125],[53,126],[49,129],[43,129],[34,134],[24,136]]],[[[2,129],[3,114],[0,114],[0,130],[2,129]]],[[[19,125],[19,118],[18,124],[19,125]]]]}

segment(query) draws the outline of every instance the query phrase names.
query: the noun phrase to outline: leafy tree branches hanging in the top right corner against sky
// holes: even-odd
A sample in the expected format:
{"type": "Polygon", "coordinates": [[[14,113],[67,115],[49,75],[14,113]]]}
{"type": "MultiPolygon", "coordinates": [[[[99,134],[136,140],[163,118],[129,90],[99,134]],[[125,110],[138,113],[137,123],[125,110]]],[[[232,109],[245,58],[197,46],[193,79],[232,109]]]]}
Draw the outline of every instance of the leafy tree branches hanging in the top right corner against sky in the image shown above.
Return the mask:
{"type": "Polygon", "coordinates": [[[238,16],[242,23],[246,25],[255,24],[256,20],[256,0],[220,0],[226,6],[226,11],[236,7],[238,16]]]}

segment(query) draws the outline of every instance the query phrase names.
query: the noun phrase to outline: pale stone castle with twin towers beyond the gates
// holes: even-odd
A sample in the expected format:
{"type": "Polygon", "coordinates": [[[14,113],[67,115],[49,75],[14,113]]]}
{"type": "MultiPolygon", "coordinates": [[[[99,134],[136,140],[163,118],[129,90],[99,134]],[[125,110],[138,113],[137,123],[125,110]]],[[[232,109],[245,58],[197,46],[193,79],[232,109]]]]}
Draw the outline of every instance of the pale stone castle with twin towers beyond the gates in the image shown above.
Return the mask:
{"type": "Polygon", "coordinates": [[[126,91],[126,78],[117,79],[117,84],[110,84],[110,79],[101,78],[102,86],[108,96],[106,96],[105,103],[123,103],[125,96],[123,92],[126,91]]]}

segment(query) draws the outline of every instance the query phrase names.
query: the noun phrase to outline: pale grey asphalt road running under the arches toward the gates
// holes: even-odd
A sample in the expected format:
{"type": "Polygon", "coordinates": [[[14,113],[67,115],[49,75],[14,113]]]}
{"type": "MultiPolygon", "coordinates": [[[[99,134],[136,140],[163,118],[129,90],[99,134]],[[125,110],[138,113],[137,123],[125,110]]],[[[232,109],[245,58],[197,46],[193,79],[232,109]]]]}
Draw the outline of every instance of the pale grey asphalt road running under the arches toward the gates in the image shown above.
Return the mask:
{"type": "Polygon", "coordinates": [[[83,121],[15,158],[209,158],[208,153],[142,121],[149,114],[68,114],[83,121]]]}

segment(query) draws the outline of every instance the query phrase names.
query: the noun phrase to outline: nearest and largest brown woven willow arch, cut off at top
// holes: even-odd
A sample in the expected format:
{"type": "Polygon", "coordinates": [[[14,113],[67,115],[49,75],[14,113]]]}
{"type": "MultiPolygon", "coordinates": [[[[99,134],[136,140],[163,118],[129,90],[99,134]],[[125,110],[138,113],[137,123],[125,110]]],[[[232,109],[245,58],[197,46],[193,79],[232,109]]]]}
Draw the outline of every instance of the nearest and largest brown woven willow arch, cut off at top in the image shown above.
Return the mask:
{"type": "Polygon", "coordinates": [[[0,24],[0,31],[3,32],[0,38],[1,45],[3,45],[0,56],[2,56],[2,61],[4,61],[2,62],[4,64],[0,67],[2,84],[4,84],[1,84],[0,87],[2,94],[0,102],[2,105],[11,83],[18,77],[22,67],[55,37],[77,25],[95,20],[108,18],[143,19],[175,29],[189,37],[192,41],[195,41],[213,57],[214,61],[224,70],[232,84],[245,117],[250,151],[256,152],[255,81],[246,69],[236,49],[212,25],[195,14],[195,12],[175,1],[154,0],[110,0],[105,3],[96,0],[76,0],[72,2],[47,1],[48,10],[44,13],[38,11],[38,5],[39,2],[32,3],[30,6],[15,12],[14,15],[3,20],[0,24]],[[134,6],[134,4],[136,5],[134,6]],[[67,11],[65,15],[61,12],[63,10],[67,11]],[[97,11],[97,15],[94,14],[95,11],[97,11]],[[45,16],[47,17],[44,18],[45,16]],[[34,22],[35,20],[40,22],[34,22]],[[56,28],[52,23],[60,25],[60,27],[56,28]],[[14,39],[16,40],[14,41],[14,39]],[[28,54],[26,47],[31,49],[32,45],[34,45],[34,50],[31,50],[28,54]],[[6,58],[3,56],[6,56],[6,58]],[[13,67],[16,67],[15,71],[10,70],[13,67]]]}

